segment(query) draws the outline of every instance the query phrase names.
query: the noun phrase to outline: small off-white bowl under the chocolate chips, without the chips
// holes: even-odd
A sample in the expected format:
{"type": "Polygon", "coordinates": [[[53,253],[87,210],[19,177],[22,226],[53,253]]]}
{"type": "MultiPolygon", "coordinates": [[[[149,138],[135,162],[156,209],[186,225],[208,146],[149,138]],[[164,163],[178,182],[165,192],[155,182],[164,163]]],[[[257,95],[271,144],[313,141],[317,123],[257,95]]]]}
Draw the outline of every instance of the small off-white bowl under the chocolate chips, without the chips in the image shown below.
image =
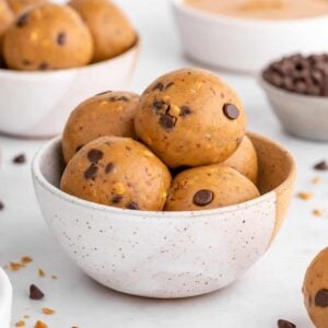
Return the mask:
{"type": "Polygon", "coordinates": [[[285,91],[262,77],[259,82],[288,132],[305,139],[328,141],[328,97],[285,91]]]}

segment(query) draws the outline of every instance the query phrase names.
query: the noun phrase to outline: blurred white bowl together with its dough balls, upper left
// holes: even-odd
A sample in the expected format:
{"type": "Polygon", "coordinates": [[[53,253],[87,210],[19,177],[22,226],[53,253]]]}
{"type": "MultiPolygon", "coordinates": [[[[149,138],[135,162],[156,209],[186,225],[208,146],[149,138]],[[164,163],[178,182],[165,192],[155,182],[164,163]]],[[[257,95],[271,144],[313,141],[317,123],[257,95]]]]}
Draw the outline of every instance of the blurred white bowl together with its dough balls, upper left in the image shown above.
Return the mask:
{"type": "Polygon", "coordinates": [[[60,133],[82,99],[127,86],[139,54],[136,31],[107,0],[42,1],[1,31],[0,132],[11,136],[60,133]]]}

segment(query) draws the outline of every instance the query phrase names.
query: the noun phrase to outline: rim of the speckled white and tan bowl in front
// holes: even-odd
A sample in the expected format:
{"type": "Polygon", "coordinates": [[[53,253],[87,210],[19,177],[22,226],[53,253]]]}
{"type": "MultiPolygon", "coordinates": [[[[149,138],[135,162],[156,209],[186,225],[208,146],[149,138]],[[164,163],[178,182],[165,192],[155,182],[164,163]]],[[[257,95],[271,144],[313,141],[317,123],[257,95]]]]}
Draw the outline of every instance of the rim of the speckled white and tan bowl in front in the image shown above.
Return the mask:
{"type": "Polygon", "coordinates": [[[280,145],[279,143],[277,143],[266,137],[262,137],[262,136],[254,133],[254,132],[247,132],[247,136],[249,136],[250,138],[254,137],[257,139],[261,139],[262,141],[270,143],[270,144],[274,145],[276,148],[280,149],[281,151],[283,151],[283,153],[288,157],[289,162],[291,163],[291,169],[290,169],[286,178],[274,189],[261,195],[258,198],[251,199],[249,201],[224,207],[224,208],[202,210],[202,211],[172,211],[172,212],[139,211],[139,210],[120,209],[120,208],[115,208],[115,207],[110,207],[110,206],[98,204],[98,203],[91,202],[91,201],[74,197],[72,195],[66,194],[66,192],[61,191],[59,188],[51,185],[49,181],[47,181],[47,179],[42,174],[40,165],[39,165],[44,153],[47,152],[49,149],[52,149],[56,144],[60,143],[61,136],[58,136],[58,137],[51,139],[50,141],[48,141],[46,144],[44,144],[37,151],[37,153],[35,154],[35,156],[33,159],[33,162],[32,162],[32,176],[33,176],[33,179],[35,183],[37,181],[39,185],[42,185],[42,187],[44,189],[46,189],[48,192],[52,194],[54,196],[62,199],[63,201],[70,202],[70,203],[73,203],[73,204],[77,204],[77,206],[80,206],[83,208],[87,208],[91,210],[106,212],[106,213],[117,213],[117,214],[126,213],[129,216],[138,216],[138,218],[157,216],[159,219],[160,218],[185,219],[185,218],[192,218],[192,216],[200,218],[200,216],[208,216],[208,215],[219,215],[219,214],[223,214],[223,213],[234,212],[236,210],[245,210],[245,209],[248,209],[250,207],[256,207],[259,203],[267,201],[268,198],[271,197],[272,192],[277,194],[288,183],[288,180],[290,180],[295,174],[295,171],[296,171],[295,160],[293,159],[291,153],[288,152],[282,145],[280,145]]]}

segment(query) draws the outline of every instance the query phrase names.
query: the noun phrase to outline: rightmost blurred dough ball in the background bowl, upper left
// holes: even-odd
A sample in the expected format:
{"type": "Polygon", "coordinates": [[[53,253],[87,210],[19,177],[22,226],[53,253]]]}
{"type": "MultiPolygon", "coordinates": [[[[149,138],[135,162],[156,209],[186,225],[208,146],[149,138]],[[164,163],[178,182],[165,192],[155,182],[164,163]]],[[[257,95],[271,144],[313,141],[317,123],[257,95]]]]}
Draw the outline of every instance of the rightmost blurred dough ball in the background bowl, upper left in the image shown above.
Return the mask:
{"type": "Polygon", "coordinates": [[[93,61],[122,54],[136,42],[136,33],[125,14],[108,0],[71,0],[91,31],[94,40],[93,61]]]}

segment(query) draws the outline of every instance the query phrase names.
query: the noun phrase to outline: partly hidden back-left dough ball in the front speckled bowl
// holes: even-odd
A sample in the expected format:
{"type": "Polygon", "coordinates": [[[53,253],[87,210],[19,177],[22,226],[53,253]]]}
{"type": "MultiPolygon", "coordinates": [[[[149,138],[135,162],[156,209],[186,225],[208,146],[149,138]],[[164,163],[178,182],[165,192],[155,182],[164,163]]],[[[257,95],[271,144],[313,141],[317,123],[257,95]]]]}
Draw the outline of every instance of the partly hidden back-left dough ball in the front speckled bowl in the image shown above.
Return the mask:
{"type": "Polygon", "coordinates": [[[87,142],[98,137],[134,138],[139,96],[130,92],[105,92],[80,104],[66,124],[62,152],[66,163],[87,142]]]}

